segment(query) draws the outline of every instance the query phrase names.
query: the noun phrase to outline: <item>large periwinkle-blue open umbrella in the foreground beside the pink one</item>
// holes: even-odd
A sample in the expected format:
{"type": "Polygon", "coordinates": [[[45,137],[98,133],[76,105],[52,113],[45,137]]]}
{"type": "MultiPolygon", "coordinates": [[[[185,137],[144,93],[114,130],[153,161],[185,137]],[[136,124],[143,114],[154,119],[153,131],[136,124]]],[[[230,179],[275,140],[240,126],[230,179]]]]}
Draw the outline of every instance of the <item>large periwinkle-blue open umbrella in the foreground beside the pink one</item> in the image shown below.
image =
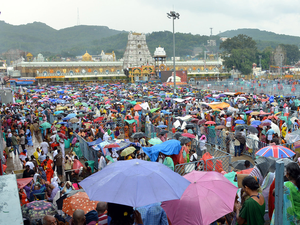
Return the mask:
{"type": "Polygon", "coordinates": [[[80,182],[90,200],[133,207],[180,199],[189,184],[164,164],[139,159],[117,161],[80,182]]]}

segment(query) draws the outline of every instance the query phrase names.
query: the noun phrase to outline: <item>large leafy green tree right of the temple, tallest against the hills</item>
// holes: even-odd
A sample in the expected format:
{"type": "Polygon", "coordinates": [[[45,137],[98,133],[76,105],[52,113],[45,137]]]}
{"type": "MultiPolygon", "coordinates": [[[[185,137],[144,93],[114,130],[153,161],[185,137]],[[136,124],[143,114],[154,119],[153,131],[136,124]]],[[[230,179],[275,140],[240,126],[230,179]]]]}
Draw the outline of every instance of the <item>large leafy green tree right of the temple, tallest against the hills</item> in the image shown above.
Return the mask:
{"type": "Polygon", "coordinates": [[[252,63],[256,61],[256,42],[247,35],[239,34],[220,44],[221,58],[227,68],[235,67],[244,74],[252,73],[252,63]]]}

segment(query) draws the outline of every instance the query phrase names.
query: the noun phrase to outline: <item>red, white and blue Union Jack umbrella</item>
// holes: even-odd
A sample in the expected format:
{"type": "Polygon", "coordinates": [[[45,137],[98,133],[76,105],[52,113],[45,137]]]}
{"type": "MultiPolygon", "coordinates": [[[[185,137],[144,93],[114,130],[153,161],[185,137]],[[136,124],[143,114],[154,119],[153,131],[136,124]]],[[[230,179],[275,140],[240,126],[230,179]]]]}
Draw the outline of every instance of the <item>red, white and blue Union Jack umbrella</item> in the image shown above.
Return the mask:
{"type": "Polygon", "coordinates": [[[290,158],[296,153],[284,146],[273,145],[263,147],[259,149],[255,154],[264,157],[273,156],[275,158],[290,158]]]}

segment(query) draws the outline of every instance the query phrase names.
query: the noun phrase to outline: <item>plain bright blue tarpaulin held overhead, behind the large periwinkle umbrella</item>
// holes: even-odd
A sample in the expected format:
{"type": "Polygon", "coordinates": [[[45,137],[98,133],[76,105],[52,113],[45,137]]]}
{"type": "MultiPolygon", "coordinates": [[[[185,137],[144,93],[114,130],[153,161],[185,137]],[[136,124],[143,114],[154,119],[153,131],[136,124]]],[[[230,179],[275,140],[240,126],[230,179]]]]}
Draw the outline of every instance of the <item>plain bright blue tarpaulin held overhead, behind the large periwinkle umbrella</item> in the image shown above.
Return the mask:
{"type": "Polygon", "coordinates": [[[159,152],[165,155],[178,155],[181,145],[180,141],[172,139],[151,147],[142,147],[142,149],[149,156],[150,160],[155,162],[159,152]]]}

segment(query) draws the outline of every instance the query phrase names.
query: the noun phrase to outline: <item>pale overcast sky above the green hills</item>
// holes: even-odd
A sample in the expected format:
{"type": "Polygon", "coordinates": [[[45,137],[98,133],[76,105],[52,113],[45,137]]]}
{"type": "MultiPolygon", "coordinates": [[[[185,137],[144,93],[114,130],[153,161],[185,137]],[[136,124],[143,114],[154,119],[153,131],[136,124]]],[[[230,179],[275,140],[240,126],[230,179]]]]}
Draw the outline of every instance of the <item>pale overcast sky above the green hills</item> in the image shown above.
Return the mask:
{"type": "Polygon", "coordinates": [[[300,36],[300,10],[297,1],[290,0],[14,0],[1,4],[0,20],[13,25],[38,21],[62,29],[77,25],[78,7],[81,25],[144,33],[172,31],[166,13],[173,5],[180,14],[175,32],[209,35],[213,27],[213,35],[217,35],[219,31],[257,28],[300,36]]]}

